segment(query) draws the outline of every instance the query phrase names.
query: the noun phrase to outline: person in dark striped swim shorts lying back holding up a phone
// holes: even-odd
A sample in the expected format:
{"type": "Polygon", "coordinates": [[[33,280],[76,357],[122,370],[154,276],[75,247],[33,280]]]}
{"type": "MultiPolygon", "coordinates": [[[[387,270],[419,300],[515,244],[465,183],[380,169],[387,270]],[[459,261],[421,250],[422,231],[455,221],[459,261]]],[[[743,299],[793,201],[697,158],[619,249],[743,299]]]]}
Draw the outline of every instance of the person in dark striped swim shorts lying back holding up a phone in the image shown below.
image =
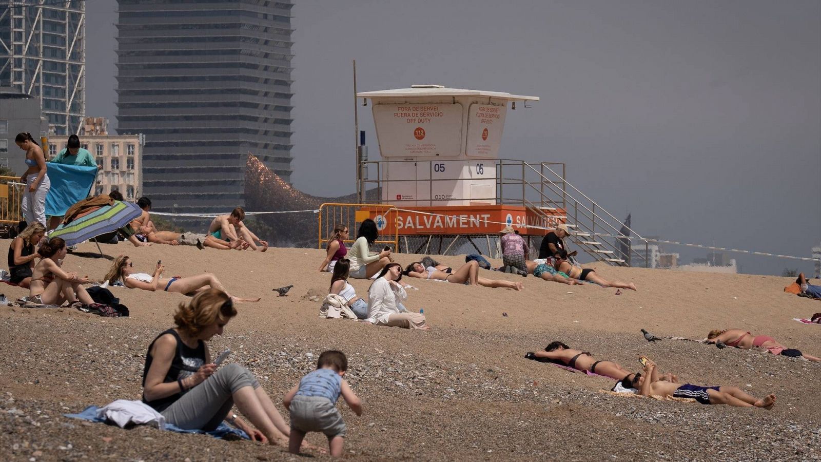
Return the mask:
{"type": "Polygon", "coordinates": [[[673,398],[693,398],[701,404],[729,404],[740,408],[773,409],[775,395],[767,395],[762,399],[747,395],[737,386],[697,386],[686,383],[681,385],[658,378],[656,364],[649,359],[644,364],[644,375],[631,374],[621,381],[623,386],[639,390],[643,396],[660,395],[673,398]]]}

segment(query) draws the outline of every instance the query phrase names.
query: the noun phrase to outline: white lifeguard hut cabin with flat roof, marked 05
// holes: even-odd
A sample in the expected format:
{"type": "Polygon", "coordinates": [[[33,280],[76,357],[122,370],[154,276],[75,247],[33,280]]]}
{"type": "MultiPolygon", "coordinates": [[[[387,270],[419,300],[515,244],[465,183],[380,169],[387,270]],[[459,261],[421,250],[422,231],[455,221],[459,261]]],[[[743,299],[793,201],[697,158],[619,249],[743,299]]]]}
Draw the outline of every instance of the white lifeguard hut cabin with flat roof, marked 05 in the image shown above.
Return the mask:
{"type": "Polygon", "coordinates": [[[508,104],[536,96],[412,85],[366,91],[383,159],[382,201],[401,206],[493,206],[508,104]]]}

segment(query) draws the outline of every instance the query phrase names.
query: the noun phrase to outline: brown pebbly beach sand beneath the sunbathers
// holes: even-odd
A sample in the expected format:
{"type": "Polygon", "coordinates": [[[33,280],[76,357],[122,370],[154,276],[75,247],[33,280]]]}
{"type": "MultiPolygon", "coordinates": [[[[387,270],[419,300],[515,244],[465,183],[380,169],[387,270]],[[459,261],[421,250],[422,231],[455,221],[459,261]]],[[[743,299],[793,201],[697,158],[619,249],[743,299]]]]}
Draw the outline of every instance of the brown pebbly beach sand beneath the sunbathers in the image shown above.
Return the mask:
{"type": "MultiPolygon", "coordinates": [[[[0,241],[0,252],[10,243],[0,241]]],[[[91,258],[93,244],[69,255],[67,270],[102,279],[109,260],[91,258]]],[[[254,372],[265,390],[282,395],[314,367],[324,349],[348,354],[348,380],[362,398],[357,418],[340,401],[351,460],[807,460],[821,457],[821,366],[791,358],[667,340],[702,339],[710,329],[739,327],[773,335],[791,348],[821,355],[821,326],[792,318],[821,312],[821,303],[784,293],[787,278],[709,275],[595,265],[603,277],[633,281],[638,292],[565,284],[481,271],[521,281],[525,289],[473,288],[410,280],[407,306],[424,308],[428,332],[323,320],[310,295],[327,293],[330,275],[316,268],[323,252],[199,251],[195,247],[103,246],[166,275],[213,272],[232,293],[261,296],[245,303],[213,352],[254,372]],[[287,297],[271,289],[294,284],[287,297]],[[507,316],[502,316],[507,312],[507,316]],[[773,411],[682,404],[605,395],[613,381],[586,377],[523,358],[562,340],[596,358],[638,369],[646,354],[682,381],[773,392],[773,411]]],[[[403,266],[418,256],[397,255],[403,266]]],[[[458,266],[463,256],[437,257],[458,266]]],[[[500,261],[493,261],[500,264],[500,261]]],[[[593,265],[588,265],[593,267],[593,265]]],[[[352,280],[365,295],[366,280],[352,280]]],[[[25,289],[0,286],[14,299],[25,289]]],[[[172,326],[177,293],[113,289],[128,318],[64,309],[0,307],[0,450],[4,460],[298,460],[279,447],[219,441],[152,428],[121,430],[62,417],[89,404],[139,399],[148,344],[172,326]]],[[[285,409],[280,407],[281,412],[285,409]]],[[[323,437],[309,440],[324,446],[323,437]]],[[[315,455],[320,459],[323,455],[315,455]]]]}

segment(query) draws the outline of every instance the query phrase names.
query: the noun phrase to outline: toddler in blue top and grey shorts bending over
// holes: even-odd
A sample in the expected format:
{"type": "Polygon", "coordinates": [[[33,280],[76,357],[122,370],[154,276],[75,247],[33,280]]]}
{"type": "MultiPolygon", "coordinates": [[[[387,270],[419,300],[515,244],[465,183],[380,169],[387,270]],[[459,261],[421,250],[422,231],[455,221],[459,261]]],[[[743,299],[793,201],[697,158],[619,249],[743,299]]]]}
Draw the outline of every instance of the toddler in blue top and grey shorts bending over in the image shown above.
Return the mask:
{"type": "Polygon", "coordinates": [[[339,395],[356,415],[362,415],[362,401],[342,377],[348,368],[345,353],[324,351],[316,362],[316,370],[302,377],[300,383],[285,395],[282,404],[291,413],[291,439],[288,450],[299,454],[307,432],[323,432],[333,457],[342,455],[345,444],[345,423],[337,409],[339,395]]]}

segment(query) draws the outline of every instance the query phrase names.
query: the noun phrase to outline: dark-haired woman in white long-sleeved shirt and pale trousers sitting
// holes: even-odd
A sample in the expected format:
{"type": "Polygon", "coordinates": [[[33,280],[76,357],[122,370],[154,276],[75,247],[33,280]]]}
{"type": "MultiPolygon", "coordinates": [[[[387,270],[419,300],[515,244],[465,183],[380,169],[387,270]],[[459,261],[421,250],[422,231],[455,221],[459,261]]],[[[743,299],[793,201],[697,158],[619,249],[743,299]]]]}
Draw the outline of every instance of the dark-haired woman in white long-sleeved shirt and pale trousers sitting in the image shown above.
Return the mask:
{"type": "Polygon", "coordinates": [[[399,284],[401,279],[402,267],[398,263],[388,263],[383,268],[368,289],[368,317],[374,319],[377,326],[429,330],[424,315],[402,312],[401,302],[407,300],[408,294],[399,284]]]}

